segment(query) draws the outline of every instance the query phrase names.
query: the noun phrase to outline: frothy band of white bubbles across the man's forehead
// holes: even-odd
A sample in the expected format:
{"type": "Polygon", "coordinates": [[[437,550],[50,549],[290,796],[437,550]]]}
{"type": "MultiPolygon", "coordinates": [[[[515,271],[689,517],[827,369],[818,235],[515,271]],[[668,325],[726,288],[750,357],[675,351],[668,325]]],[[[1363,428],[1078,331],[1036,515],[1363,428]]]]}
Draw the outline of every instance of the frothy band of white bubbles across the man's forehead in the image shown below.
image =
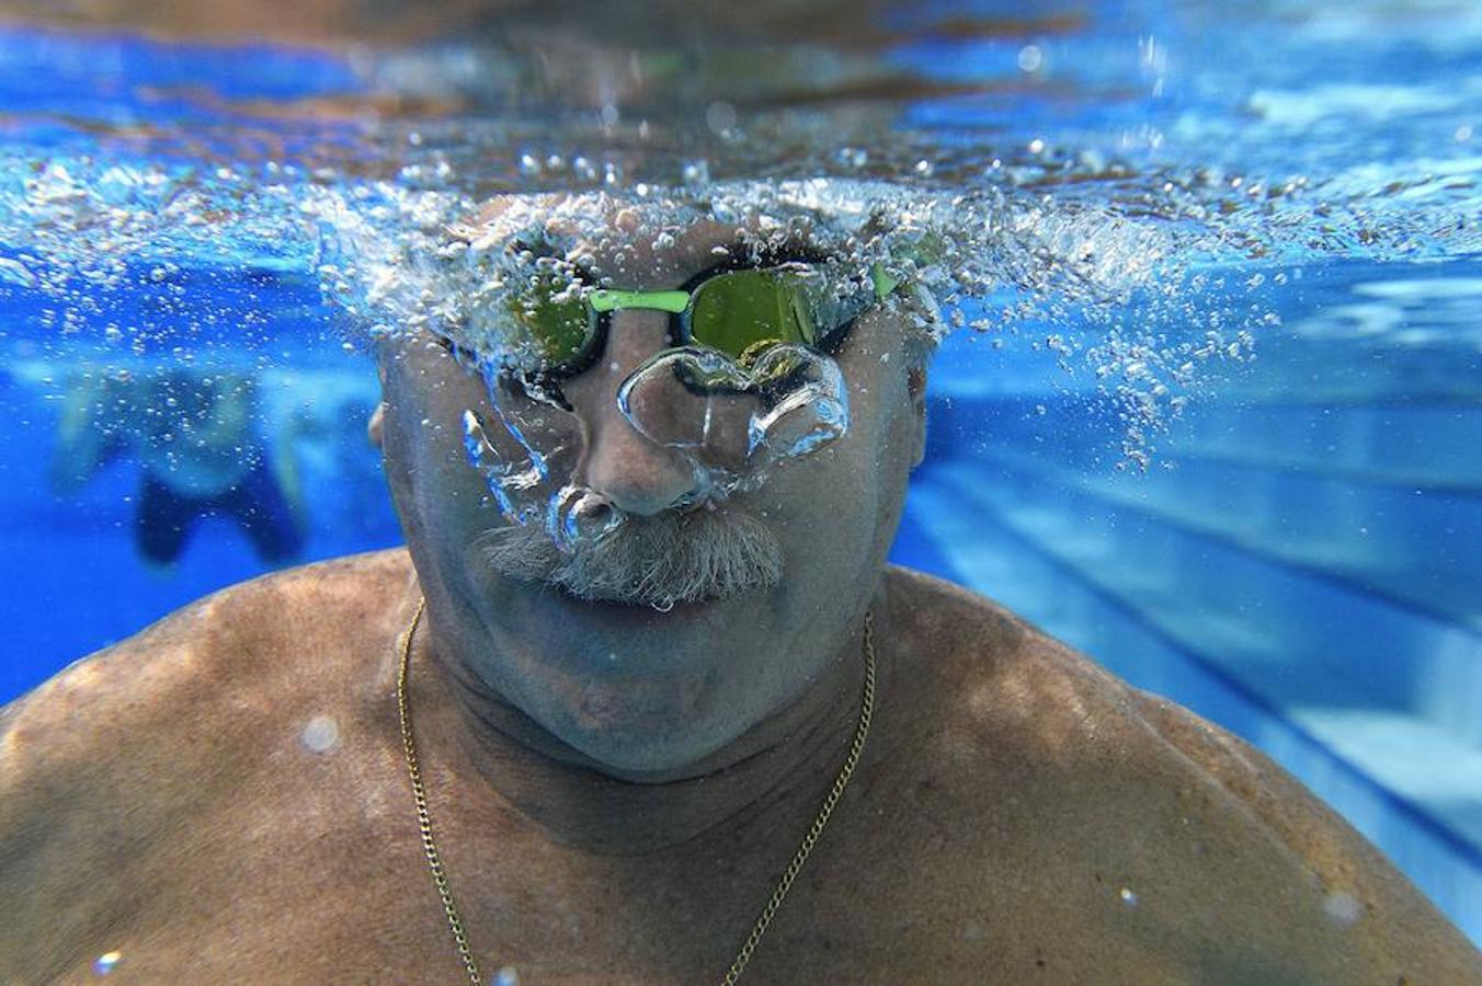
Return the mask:
{"type": "MultiPolygon", "coordinates": [[[[698,170],[698,169],[697,169],[698,170]]],[[[622,286],[697,225],[734,228],[732,249],[803,250],[926,286],[944,306],[1005,289],[1116,302],[1168,259],[1154,228],[1091,209],[1055,210],[996,191],[941,192],[888,182],[812,179],[639,184],[622,194],[511,195],[485,207],[442,195],[378,203],[399,235],[342,198],[316,212],[332,261],[326,286],[372,324],[433,329],[474,351],[507,342],[507,312],[538,283],[622,286]],[[461,213],[461,215],[459,215],[461,213]]],[[[951,321],[960,323],[956,314],[951,321]]]]}

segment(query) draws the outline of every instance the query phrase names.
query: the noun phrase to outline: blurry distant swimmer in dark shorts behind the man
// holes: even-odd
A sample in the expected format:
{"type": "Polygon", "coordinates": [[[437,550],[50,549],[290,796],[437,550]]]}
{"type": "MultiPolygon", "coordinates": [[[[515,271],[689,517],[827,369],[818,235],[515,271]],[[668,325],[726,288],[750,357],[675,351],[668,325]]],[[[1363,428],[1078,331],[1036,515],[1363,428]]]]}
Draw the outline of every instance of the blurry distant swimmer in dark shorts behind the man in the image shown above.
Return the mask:
{"type": "Polygon", "coordinates": [[[148,561],[178,560],[202,517],[236,521],[268,564],[292,561],[304,545],[296,469],[288,449],[270,456],[256,419],[249,376],[82,376],[64,398],[52,489],[79,490],[114,459],[133,456],[133,536],[148,561]]]}

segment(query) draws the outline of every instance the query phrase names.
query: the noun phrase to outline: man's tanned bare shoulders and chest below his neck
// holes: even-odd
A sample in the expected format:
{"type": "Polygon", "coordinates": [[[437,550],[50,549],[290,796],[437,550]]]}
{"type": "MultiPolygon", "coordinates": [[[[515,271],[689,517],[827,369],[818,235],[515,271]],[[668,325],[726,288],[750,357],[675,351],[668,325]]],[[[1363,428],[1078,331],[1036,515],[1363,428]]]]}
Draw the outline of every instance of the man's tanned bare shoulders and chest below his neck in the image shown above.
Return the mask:
{"type": "MultiPolygon", "coordinates": [[[[111,950],[122,983],[458,982],[397,737],[415,597],[402,551],[259,579],[12,705],[0,982],[93,982],[111,950]],[[304,743],[317,717],[328,752],[304,743]]],[[[864,758],[748,982],[1482,980],[1430,903],[1240,740],[935,579],[889,569],[874,611],[864,758]],[[1353,924],[1329,916],[1340,893],[1353,924]]],[[[737,816],[630,854],[562,845],[482,785],[443,700],[413,675],[439,841],[477,953],[525,983],[717,980],[857,714],[799,737],[802,768],[737,816]]]]}

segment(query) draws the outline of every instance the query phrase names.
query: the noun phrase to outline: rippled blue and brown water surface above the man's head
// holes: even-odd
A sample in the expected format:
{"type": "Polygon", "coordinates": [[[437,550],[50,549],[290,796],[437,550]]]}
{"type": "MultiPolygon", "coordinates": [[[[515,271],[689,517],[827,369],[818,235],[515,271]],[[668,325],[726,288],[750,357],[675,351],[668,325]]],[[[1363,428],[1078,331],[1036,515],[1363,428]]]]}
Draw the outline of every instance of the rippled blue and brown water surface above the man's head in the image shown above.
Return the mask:
{"type": "MultiPolygon", "coordinates": [[[[451,34],[477,40],[408,21],[421,43],[12,27],[9,338],[41,360],[277,366],[285,336],[336,338],[329,309],[285,332],[285,289],[393,293],[405,252],[494,192],[828,176],[951,234],[957,324],[1057,352],[1067,388],[1152,428],[1261,342],[1476,354],[1464,318],[1402,317],[1436,277],[1280,311],[1335,262],[1476,252],[1466,4],[769,4],[559,31],[514,12],[451,34]]],[[[1443,280],[1436,308],[1466,308],[1472,278],[1443,280]]]]}

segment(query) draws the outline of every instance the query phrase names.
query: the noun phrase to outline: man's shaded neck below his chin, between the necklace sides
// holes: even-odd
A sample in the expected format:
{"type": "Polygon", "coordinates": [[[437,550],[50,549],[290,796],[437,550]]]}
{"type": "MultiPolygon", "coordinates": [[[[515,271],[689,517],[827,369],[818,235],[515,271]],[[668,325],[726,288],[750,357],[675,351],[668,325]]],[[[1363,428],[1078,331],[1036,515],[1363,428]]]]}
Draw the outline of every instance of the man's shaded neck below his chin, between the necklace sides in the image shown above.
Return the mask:
{"type": "MultiPolygon", "coordinates": [[[[886,640],[876,619],[874,640],[886,640]]],[[[458,802],[513,807],[565,845],[642,854],[720,831],[769,839],[775,828],[797,829],[843,765],[864,675],[861,619],[790,705],[695,764],[645,776],[615,774],[559,740],[458,660],[427,616],[412,638],[408,691],[424,758],[448,764],[458,802]]]]}

